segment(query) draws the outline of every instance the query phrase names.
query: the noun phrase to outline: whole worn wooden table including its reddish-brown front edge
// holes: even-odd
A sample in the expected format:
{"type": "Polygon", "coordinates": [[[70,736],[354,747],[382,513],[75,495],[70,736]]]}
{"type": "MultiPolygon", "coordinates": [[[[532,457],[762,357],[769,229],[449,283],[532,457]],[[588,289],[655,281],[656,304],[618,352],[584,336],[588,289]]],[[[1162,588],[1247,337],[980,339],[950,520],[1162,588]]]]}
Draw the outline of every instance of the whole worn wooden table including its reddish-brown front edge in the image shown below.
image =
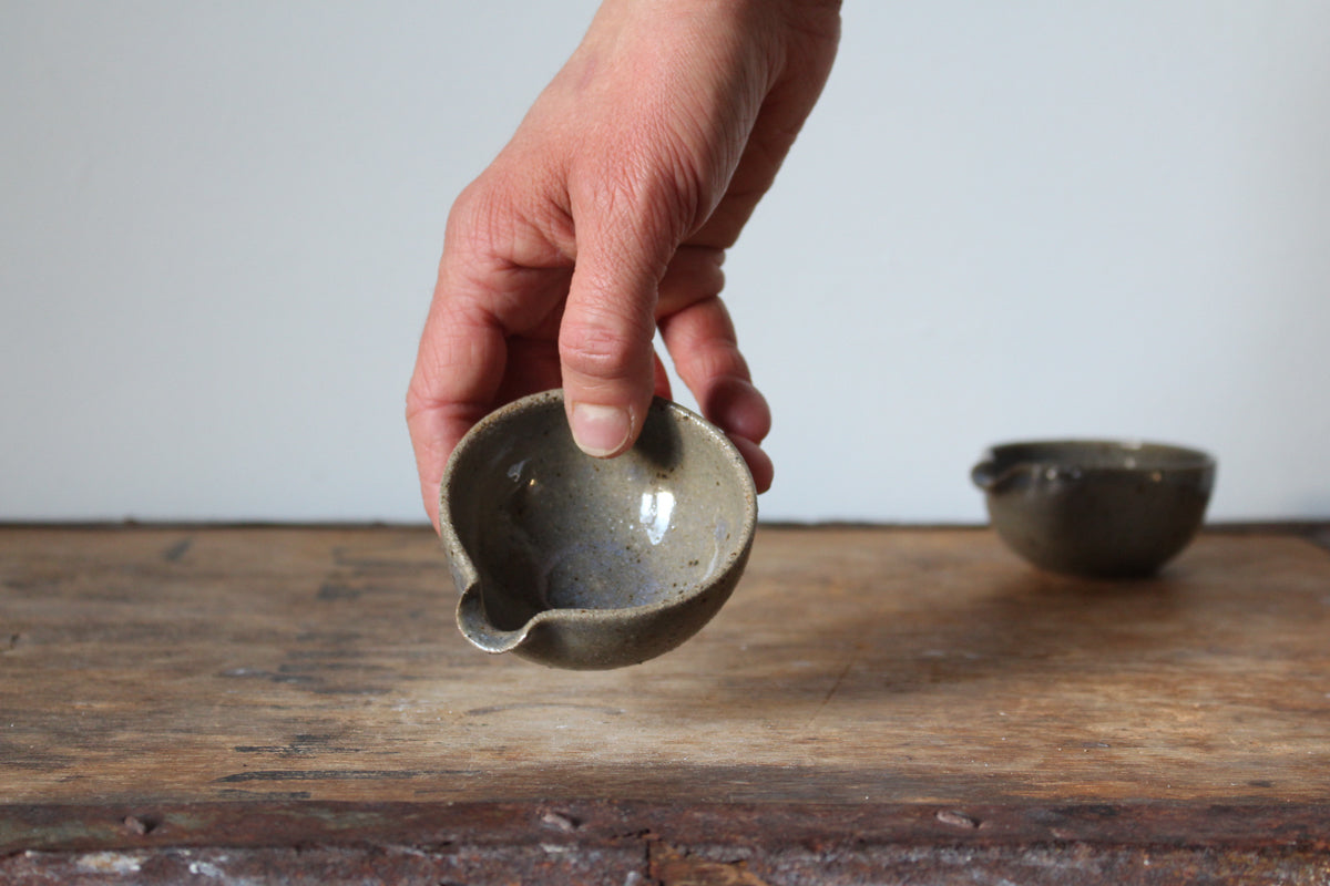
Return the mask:
{"type": "Polygon", "coordinates": [[[467,646],[428,530],[0,529],[0,881],[1326,883],[1327,541],[763,526],[577,673],[467,646]]]}

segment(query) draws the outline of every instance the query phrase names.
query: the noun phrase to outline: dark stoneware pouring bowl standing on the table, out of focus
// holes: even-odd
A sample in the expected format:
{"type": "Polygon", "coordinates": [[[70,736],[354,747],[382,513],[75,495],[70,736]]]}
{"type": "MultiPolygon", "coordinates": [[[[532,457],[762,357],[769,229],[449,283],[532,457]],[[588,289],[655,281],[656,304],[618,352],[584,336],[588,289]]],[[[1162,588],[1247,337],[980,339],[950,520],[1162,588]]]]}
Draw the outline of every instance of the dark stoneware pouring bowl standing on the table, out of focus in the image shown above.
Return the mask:
{"type": "Polygon", "coordinates": [[[1129,578],[1190,543],[1214,470],[1214,458],[1182,446],[1055,440],[994,446],[971,477],[998,535],[1035,566],[1129,578]]]}

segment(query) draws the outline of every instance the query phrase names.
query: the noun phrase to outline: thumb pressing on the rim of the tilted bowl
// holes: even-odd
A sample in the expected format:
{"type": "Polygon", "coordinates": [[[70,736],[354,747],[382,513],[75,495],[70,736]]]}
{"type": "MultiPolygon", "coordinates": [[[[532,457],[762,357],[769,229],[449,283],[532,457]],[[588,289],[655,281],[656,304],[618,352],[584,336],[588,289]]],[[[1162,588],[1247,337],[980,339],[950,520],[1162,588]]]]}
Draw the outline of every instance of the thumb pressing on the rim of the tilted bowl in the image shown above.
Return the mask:
{"type": "Polygon", "coordinates": [[[676,242],[644,223],[577,223],[577,262],[559,331],[564,402],[577,446],[610,457],[641,433],[656,388],[656,300],[676,242]]]}

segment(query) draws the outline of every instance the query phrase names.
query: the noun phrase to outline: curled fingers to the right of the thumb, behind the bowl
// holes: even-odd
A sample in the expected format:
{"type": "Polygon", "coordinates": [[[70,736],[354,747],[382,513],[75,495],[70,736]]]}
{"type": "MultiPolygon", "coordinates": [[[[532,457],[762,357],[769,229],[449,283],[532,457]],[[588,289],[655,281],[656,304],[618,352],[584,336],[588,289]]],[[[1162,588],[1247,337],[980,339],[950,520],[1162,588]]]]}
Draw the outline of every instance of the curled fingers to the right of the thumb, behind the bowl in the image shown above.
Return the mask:
{"type": "Polygon", "coordinates": [[[766,491],[774,469],[759,444],[771,430],[771,410],[753,385],[725,304],[720,298],[705,298],[662,316],[660,325],[674,368],[702,414],[729,434],[758,491],[766,491]]]}

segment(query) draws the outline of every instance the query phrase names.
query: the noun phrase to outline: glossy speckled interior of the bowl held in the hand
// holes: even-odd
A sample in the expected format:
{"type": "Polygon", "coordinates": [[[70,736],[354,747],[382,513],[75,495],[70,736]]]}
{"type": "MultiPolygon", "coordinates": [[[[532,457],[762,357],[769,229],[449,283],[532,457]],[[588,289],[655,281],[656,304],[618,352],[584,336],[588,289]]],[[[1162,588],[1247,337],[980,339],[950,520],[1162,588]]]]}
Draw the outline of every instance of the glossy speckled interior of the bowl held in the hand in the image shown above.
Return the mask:
{"type": "Polygon", "coordinates": [[[440,513],[479,574],[488,618],[622,610],[698,591],[746,546],[755,491],[716,428],[657,400],[637,445],[592,458],[560,392],[491,414],[462,442],[440,513]]]}

